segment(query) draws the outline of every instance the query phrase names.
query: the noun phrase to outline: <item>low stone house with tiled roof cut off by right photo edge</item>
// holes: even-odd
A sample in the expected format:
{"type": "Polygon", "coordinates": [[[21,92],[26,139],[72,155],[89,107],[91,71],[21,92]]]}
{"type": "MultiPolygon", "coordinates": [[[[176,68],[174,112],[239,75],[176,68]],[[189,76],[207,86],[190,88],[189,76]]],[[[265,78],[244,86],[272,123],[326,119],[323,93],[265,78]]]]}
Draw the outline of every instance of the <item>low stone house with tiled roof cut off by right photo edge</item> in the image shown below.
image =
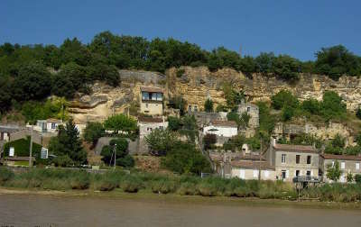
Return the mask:
{"type": "Polygon", "coordinates": [[[322,177],[325,182],[331,181],[327,175],[327,169],[335,165],[338,161],[339,169],[341,170],[340,182],[347,182],[347,174],[351,173],[354,177],[356,174],[361,174],[361,156],[354,155],[334,155],[321,154],[319,157],[319,169],[322,170],[322,177]]]}

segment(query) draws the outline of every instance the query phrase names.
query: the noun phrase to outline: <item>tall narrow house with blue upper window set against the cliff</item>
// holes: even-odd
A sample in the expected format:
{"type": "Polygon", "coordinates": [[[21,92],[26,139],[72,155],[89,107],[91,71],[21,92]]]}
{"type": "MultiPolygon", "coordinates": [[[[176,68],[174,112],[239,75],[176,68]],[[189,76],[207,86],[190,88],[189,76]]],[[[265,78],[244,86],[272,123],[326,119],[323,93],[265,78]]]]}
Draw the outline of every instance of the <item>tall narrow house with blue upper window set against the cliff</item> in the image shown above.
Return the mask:
{"type": "Polygon", "coordinates": [[[163,114],[163,91],[159,87],[141,87],[140,112],[149,115],[163,114]]]}

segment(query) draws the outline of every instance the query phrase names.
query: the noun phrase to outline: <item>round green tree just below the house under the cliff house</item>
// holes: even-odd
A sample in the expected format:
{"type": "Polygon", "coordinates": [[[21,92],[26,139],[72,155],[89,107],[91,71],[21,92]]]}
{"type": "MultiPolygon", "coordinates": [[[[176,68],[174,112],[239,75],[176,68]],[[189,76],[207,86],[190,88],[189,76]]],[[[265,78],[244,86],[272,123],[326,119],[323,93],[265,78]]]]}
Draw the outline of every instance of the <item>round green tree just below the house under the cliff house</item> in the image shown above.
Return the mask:
{"type": "Polygon", "coordinates": [[[155,129],[148,136],[145,136],[150,153],[155,156],[165,156],[175,143],[175,136],[169,130],[155,129]]]}

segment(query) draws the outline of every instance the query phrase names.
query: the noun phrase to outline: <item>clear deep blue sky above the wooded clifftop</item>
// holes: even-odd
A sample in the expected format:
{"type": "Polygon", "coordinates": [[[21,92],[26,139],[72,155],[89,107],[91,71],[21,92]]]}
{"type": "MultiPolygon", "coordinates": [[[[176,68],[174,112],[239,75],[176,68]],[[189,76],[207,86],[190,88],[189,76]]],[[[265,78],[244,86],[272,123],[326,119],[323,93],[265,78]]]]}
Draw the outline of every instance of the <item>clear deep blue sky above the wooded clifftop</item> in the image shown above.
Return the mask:
{"type": "Polygon", "coordinates": [[[1,0],[0,43],[88,43],[110,31],[309,60],[338,44],[361,55],[360,9],[359,0],[1,0]]]}

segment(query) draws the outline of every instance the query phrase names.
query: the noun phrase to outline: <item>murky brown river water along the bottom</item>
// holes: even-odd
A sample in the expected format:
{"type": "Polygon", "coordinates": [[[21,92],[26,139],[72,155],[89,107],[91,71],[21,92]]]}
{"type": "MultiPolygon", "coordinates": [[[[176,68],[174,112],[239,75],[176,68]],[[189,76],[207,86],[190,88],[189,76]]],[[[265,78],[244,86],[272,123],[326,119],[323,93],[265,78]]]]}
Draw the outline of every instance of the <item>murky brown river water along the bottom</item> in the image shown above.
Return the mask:
{"type": "Polygon", "coordinates": [[[361,226],[360,211],[0,195],[0,226],[361,226]]]}

